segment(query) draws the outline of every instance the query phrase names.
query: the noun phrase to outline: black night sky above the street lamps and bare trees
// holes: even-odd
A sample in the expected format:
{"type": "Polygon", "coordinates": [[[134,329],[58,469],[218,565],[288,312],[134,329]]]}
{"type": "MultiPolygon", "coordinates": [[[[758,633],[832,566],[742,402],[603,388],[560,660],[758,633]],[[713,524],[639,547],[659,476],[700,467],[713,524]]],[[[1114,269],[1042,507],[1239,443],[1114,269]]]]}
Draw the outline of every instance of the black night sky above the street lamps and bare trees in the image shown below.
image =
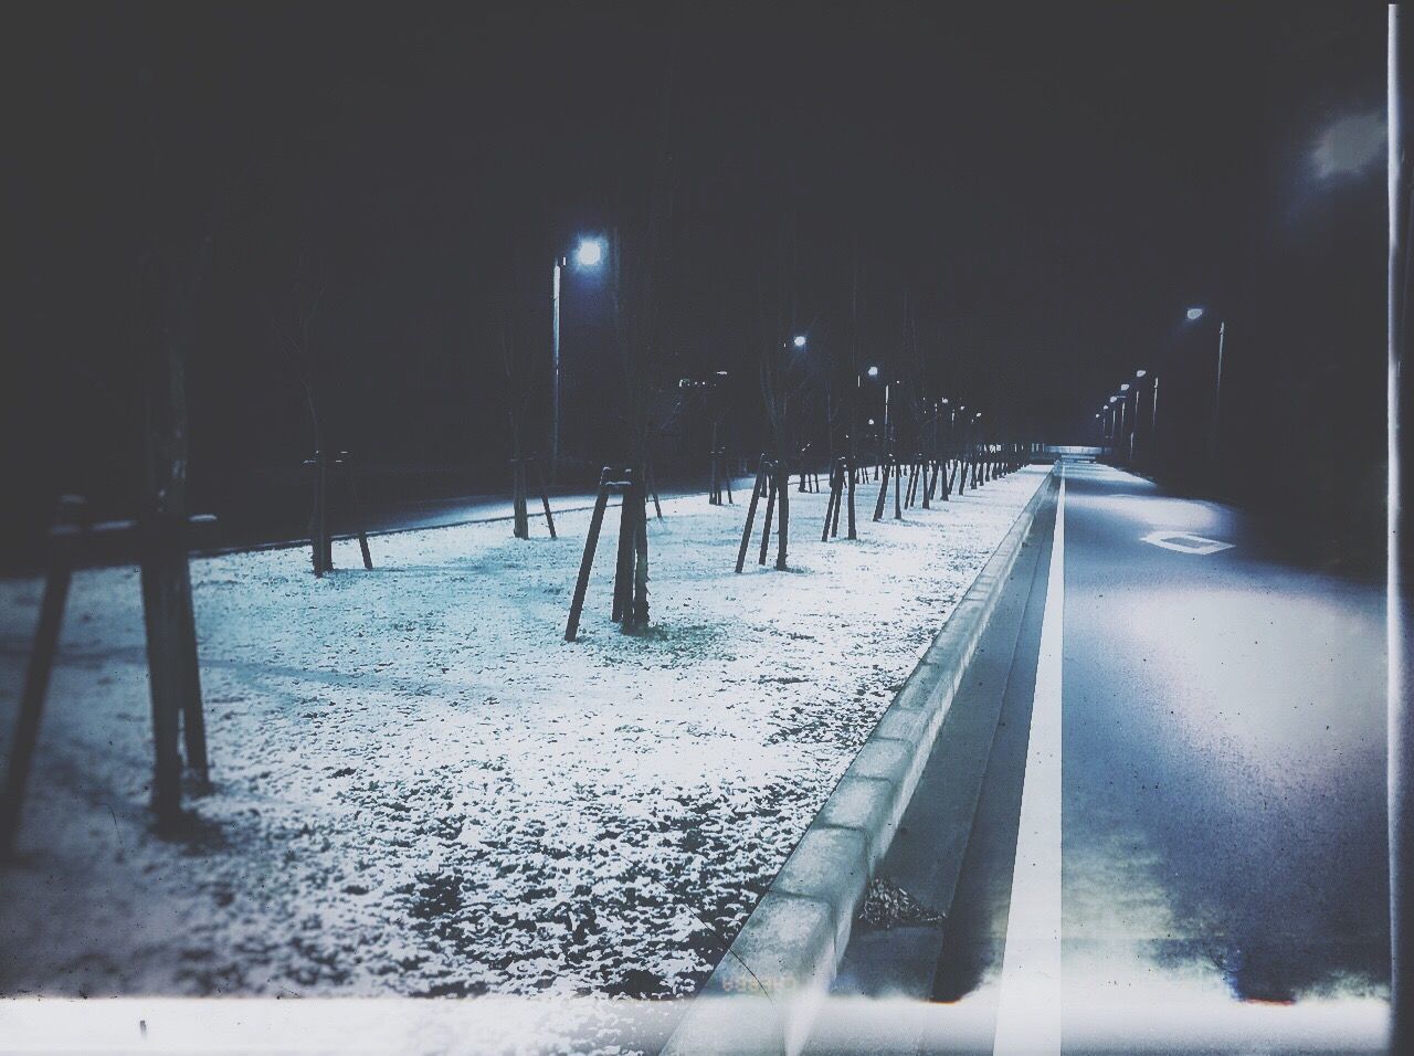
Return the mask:
{"type": "MultiPolygon", "coordinates": [[[[819,346],[844,339],[857,259],[864,355],[888,362],[906,290],[940,385],[1087,441],[1135,366],[1182,413],[1210,342],[1179,319],[1205,303],[1249,476],[1312,444],[1380,455],[1383,148],[1355,164],[1356,134],[1353,171],[1321,168],[1332,123],[1383,115],[1379,4],[34,4],[6,52],[25,508],[132,492],[163,315],[136,276],[205,232],[198,493],[308,454],[270,325],[300,259],[327,276],[335,442],[499,464],[493,305],[513,291],[518,352],[544,358],[549,262],[642,211],[669,64],[673,366],[747,373],[761,232],[789,202],[819,346]]],[[[581,400],[607,336],[602,286],[571,276],[581,400]]]]}

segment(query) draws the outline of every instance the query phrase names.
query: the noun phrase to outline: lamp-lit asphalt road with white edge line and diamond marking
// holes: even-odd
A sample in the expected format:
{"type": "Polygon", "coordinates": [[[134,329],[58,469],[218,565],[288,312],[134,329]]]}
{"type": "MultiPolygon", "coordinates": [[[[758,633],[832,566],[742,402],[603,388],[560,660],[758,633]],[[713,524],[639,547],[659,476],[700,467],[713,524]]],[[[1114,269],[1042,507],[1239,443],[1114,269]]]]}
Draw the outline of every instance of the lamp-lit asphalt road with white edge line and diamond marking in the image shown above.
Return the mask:
{"type": "Polygon", "coordinates": [[[1381,1050],[1383,588],[1065,479],[882,867],[946,917],[858,927],[810,1050],[1381,1050]]]}

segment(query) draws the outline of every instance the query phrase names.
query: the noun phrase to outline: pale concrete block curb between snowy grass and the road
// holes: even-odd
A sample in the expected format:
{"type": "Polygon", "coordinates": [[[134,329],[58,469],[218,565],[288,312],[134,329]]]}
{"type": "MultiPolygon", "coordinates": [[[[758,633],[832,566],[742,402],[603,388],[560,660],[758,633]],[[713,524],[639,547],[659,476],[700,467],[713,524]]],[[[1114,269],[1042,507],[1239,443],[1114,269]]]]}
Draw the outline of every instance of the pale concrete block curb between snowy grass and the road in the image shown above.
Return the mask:
{"type": "Polygon", "coordinates": [[[1052,469],[933,638],[689,1005],[665,1056],[796,1053],[805,1045],[868,881],[888,851],[997,606],[998,588],[1056,479],[1052,469]]]}

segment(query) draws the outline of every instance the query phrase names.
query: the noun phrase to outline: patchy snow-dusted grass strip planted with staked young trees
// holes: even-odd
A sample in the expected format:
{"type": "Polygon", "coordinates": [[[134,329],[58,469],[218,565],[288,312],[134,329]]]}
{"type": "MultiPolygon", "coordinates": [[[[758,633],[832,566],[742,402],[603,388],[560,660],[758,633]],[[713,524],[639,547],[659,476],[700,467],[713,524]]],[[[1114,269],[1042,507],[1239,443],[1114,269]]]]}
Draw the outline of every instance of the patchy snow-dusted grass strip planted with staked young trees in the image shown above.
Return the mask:
{"type": "MultiPolygon", "coordinates": [[[[75,577],[21,861],[0,868],[0,991],[690,994],[1044,479],[732,573],[744,503],[665,500],[653,628],[608,619],[587,513],[192,563],[214,794],[148,831],[137,573],[75,577]]],[[[742,496],[738,496],[738,499],[742,496]]],[[[752,554],[754,557],[754,554],[752,554]]],[[[0,744],[40,597],[0,582],[0,744]]]]}

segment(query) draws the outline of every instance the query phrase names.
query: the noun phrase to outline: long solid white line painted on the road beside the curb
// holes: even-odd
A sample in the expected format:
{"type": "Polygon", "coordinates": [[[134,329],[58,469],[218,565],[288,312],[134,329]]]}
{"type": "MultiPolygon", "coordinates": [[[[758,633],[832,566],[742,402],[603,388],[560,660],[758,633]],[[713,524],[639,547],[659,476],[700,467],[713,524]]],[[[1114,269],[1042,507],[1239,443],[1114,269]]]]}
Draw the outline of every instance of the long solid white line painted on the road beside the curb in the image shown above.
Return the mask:
{"type": "Polygon", "coordinates": [[[995,1056],[1060,1052],[1060,639],[1065,612],[1065,475],[1056,499],[1021,830],[1001,963],[995,1056]]]}

